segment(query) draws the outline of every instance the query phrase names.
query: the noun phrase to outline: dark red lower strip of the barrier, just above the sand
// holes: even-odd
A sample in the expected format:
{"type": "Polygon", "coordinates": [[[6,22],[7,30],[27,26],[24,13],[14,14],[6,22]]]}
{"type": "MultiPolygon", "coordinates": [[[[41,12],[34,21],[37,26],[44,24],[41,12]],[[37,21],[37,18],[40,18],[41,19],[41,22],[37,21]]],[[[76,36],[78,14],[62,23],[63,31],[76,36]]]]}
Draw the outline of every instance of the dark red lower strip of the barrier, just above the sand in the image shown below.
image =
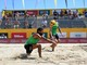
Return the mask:
{"type": "MultiPolygon", "coordinates": [[[[25,43],[27,39],[0,39],[0,43],[25,43]]],[[[61,38],[60,43],[87,43],[87,38],[61,38]]],[[[49,43],[40,40],[39,43],[49,43]]]]}

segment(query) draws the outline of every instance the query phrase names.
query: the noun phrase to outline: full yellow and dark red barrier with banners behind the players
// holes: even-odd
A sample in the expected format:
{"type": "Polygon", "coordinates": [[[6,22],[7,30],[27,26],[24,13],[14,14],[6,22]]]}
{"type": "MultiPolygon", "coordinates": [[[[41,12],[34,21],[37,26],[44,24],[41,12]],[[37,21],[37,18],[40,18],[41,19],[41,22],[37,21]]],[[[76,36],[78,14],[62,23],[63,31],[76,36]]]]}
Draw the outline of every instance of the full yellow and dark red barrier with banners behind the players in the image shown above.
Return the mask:
{"type": "MultiPolygon", "coordinates": [[[[26,39],[36,32],[36,28],[32,29],[0,29],[0,43],[25,43],[26,39]],[[3,34],[5,38],[3,37],[3,34]]],[[[61,38],[61,43],[87,43],[87,28],[61,28],[64,37],[61,38]],[[72,36],[73,35],[73,36],[72,36]]],[[[49,28],[44,30],[45,37],[49,38],[49,28]]],[[[39,43],[48,43],[39,41],[39,43]]]]}

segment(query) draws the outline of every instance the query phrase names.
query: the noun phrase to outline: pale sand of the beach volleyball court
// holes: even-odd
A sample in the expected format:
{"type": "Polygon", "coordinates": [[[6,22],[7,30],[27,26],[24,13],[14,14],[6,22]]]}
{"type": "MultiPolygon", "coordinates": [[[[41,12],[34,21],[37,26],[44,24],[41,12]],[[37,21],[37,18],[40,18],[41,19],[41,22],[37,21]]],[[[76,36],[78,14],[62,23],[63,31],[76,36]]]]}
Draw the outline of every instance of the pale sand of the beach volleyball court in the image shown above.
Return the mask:
{"type": "MultiPolygon", "coordinates": [[[[46,51],[42,44],[42,57],[37,49],[27,58],[24,44],[0,44],[0,65],[87,65],[87,44],[58,44],[54,52],[46,51]]],[[[49,49],[50,50],[50,49],[49,49]]]]}

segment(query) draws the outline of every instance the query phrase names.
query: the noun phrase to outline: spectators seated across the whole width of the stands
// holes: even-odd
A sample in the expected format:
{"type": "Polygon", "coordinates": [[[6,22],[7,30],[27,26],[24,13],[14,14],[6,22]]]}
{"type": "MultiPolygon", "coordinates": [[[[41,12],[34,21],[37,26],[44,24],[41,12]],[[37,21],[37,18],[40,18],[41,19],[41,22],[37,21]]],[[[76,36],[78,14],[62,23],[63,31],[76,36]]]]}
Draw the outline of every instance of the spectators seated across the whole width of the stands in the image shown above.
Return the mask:
{"type": "Polygon", "coordinates": [[[0,27],[2,22],[4,22],[4,28],[20,28],[21,22],[23,22],[23,28],[33,28],[33,26],[37,26],[37,18],[41,18],[41,26],[47,27],[48,18],[57,18],[57,20],[76,20],[76,18],[84,18],[87,17],[87,11],[83,12],[83,15],[79,14],[77,11],[62,10],[52,12],[52,16],[48,15],[46,12],[41,16],[37,16],[34,13],[32,15],[27,13],[20,13],[16,12],[15,14],[5,13],[5,15],[0,20],[0,27]],[[29,22],[28,18],[33,18],[29,22]]]}

